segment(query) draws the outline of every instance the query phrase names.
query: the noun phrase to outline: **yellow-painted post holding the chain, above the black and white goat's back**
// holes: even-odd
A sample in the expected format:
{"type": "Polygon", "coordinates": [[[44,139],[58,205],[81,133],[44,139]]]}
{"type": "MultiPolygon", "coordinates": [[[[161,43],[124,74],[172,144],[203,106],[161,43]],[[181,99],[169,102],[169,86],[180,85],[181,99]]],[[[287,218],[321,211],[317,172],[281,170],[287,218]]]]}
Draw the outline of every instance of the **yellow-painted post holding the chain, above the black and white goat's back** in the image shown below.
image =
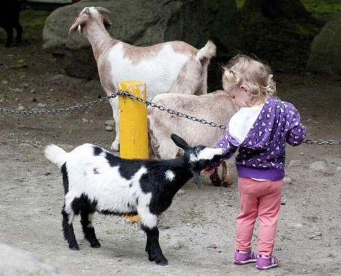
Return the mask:
{"type": "MultiPolygon", "coordinates": [[[[146,99],[143,81],[120,81],[118,90],[146,99]]],[[[148,159],[147,106],[145,103],[118,97],[120,116],[120,157],[126,159],[148,159]]]]}

